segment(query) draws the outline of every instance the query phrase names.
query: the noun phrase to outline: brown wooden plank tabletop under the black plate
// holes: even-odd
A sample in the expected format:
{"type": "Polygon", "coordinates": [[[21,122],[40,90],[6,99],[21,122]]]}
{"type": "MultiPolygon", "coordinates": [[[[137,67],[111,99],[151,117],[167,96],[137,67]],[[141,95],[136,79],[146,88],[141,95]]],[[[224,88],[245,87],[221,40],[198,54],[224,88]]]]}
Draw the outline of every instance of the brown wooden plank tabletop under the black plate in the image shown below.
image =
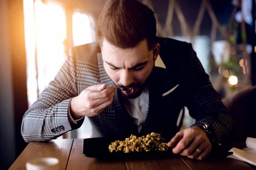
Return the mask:
{"type": "Polygon", "coordinates": [[[82,139],[55,139],[50,142],[30,142],[10,167],[26,169],[26,162],[41,157],[55,157],[60,170],[253,170],[253,166],[230,158],[210,158],[199,161],[186,156],[143,160],[99,160],[82,154],[82,139]]]}

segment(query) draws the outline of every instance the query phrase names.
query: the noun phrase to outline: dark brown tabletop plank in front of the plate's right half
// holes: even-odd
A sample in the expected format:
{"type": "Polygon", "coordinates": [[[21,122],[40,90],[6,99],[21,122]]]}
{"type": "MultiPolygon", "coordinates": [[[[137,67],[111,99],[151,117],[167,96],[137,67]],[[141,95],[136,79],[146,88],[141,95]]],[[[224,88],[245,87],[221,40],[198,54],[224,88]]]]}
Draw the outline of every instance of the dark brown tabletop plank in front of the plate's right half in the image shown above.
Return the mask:
{"type": "Polygon", "coordinates": [[[179,156],[125,161],[128,170],[189,170],[179,156]]]}

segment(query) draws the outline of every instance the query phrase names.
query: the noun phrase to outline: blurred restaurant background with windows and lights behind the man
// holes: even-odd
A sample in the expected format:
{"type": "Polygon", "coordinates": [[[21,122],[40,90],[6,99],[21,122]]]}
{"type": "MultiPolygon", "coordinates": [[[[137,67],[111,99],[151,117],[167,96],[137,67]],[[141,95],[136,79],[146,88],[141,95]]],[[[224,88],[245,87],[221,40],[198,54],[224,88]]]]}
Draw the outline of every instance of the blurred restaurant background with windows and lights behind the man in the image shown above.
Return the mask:
{"type": "MultiPolygon", "coordinates": [[[[256,83],[255,0],[140,0],[155,11],[157,35],[191,42],[222,98],[256,83]]],[[[0,0],[0,169],[26,147],[23,114],[76,45],[96,41],[107,0],[0,0]]],[[[171,47],[170,47],[171,48],[171,47]]],[[[161,59],[157,66],[165,67],[161,59]]],[[[183,128],[193,119],[187,109],[183,128]]],[[[89,138],[88,119],[60,138],[89,138]]]]}

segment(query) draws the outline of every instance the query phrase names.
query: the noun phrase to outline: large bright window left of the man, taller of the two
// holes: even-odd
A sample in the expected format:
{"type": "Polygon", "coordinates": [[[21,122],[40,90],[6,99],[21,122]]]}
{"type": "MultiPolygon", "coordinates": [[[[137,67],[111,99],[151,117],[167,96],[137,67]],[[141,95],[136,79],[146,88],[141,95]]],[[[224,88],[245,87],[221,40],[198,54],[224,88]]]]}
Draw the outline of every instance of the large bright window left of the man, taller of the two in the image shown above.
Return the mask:
{"type": "Polygon", "coordinates": [[[62,6],[24,0],[29,107],[54,79],[66,59],[66,17],[62,6]],[[34,10],[35,9],[35,10],[34,10]]]}

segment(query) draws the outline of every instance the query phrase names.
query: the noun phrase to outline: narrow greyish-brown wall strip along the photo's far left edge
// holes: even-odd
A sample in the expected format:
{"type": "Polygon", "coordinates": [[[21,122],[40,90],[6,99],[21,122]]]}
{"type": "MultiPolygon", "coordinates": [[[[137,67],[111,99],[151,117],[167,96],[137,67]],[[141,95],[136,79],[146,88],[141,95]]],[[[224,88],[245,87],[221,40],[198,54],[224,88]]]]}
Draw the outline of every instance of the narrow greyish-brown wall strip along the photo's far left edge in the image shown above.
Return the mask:
{"type": "Polygon", "coordinates": [[[15,160],[12,65],[8,37],[7,1],[0,0],[0,169],[15,160]]]}

